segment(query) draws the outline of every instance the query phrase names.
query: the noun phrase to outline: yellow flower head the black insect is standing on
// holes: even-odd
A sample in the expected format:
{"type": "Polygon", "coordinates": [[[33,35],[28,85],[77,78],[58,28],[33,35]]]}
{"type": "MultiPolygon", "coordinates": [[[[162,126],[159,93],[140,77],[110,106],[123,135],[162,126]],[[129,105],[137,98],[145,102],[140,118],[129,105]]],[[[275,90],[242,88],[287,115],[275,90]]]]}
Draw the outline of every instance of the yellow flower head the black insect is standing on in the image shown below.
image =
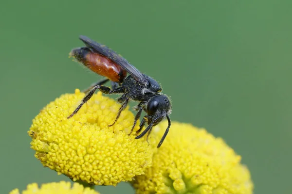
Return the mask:
{"type": "MultiPolygon", "coordinates": [[[[116,185],[144,174],[154,149],[145,139],[134,139],[134,132],[128,135],[133,114],[127,108],[108,127],[120,105],[99,92],[67,119],[84,96],[76,89],[75,94],[62,95],[36,116],[28,131],[36,158],[73,181],[95,185],[116,185]]],[[[138,128],[139,124],[134,131],[138,128]]]]}

